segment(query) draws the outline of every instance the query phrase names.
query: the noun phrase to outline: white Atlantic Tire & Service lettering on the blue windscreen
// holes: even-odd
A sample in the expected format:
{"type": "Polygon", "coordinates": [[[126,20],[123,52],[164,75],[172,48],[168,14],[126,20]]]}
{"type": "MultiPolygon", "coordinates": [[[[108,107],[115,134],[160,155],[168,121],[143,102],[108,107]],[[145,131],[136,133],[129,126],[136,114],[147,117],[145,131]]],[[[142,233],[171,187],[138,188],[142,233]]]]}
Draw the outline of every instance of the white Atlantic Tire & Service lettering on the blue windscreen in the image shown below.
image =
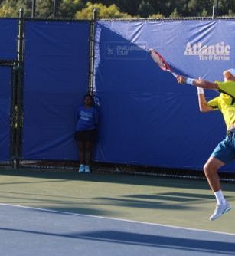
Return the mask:
{"type": "Polygon", "coordinates": [[[229,61],[230,45],[220,42],[217,44],[191,44],[188,42],[184,50],[184,55],[199,57],[200,61],[229,61]]]}

